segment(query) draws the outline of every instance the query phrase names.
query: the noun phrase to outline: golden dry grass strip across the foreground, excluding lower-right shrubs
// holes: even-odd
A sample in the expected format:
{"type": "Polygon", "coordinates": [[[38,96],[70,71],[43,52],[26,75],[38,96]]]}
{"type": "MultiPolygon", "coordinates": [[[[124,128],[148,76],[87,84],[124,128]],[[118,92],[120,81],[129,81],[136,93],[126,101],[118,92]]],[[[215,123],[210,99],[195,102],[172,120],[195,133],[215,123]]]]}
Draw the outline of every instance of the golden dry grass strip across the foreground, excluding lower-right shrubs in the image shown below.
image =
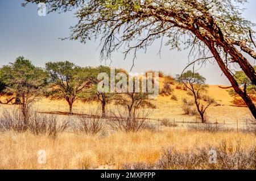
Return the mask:
{"type": "Polygon", "coordinates": [[[56,138],[30,133],[0,133],[0,169],[122,169],[123,164],[155,163],[164,148],[196,149],[240,140],[243,149],[256,143],[246,133],[208,133],[185,130],[138,133],[115,132],[109,136],[64,133],[56,138]],[[46,164],[38,163],[38,150],[46,150],[46,164]]]}

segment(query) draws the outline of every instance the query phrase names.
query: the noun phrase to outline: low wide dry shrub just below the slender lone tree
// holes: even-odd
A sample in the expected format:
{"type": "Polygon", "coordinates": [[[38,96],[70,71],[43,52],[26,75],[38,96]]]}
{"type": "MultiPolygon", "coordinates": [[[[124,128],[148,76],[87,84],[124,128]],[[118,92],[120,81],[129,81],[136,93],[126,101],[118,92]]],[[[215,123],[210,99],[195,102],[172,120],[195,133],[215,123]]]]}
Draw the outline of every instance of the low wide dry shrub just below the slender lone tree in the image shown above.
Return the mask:
{"type": "Polygon", "coordinates": [[[189,131],[202,131],[202,132],[219,132],[225,131],[224,125],[219,123],[198,123],[187,126],[189,131]]]}

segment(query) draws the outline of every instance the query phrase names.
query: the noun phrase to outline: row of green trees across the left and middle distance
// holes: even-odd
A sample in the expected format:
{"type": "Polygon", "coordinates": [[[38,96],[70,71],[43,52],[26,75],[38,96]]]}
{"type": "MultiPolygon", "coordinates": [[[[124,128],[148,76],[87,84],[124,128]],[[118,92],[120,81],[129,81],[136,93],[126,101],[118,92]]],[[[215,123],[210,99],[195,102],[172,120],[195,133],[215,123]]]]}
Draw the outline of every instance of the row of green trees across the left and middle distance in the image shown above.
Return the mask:
{"type": "MultiPolygon", "coordinates": [[[[116,69],[115,73],[120,71],[124,72],[116,69]]],[[[70,115],[73,115],[73,104],[77,100],[99,102],[102,117],[106,116],[106,104],[110,102],[126,107],[130,116],[135,115],[139,107],[154,107],[147,100],[147,93],[142,91],[130,94],[98,91],[97,86],[101,81],[98,74],[102,72],[110,75],[110,68],[82,68],[69,61],[58,61],[47,62],[46,68],[42,69],[20,56],[0,69],[0,95],[13,96],[11,100],[15,99],[15,104],[20,104],[24,117],[40,96],[51,100],[66,100],[70,115]]],[[[7,100],[6,103],[9,102],[7,100]]]]}

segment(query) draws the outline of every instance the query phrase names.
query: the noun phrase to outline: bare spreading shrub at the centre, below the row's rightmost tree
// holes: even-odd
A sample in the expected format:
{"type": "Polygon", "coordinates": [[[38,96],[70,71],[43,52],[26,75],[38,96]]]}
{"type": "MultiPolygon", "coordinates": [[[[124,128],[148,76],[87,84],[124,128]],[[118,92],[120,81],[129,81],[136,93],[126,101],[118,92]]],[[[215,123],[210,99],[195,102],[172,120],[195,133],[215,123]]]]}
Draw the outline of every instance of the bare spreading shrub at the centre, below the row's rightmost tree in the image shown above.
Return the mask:
{"type": "Polygon", "coordinates": [[[107,123],[114,131],[138,132],[143,129],[156,129],[154,124],[147,122],[151,115],[150,110],[138,109],[135,116],[129,116],[126,109],[116,108],[115,111],[110,111],[110,114],[112,118],[107,123]]]}

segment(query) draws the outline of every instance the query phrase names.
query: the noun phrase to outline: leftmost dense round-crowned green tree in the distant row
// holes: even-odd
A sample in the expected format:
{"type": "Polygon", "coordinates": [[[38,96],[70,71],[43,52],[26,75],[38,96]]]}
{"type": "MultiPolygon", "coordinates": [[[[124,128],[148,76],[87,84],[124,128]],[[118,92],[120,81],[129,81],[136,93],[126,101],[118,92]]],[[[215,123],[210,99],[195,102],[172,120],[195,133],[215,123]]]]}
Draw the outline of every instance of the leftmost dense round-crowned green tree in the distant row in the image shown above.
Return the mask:
{"type": "Polygon", "coordinates": [[[16,58],[14,63],[5,65],[0,70],[2,85],[5,85],[4,92],[16,94],[22,106],[24,118],[27,118],[31,103],[35,102],[38,96],[43,94],[47,84],[47,74],[41,69],[32,65],[30,60],[24,57],[16,58]]]}

